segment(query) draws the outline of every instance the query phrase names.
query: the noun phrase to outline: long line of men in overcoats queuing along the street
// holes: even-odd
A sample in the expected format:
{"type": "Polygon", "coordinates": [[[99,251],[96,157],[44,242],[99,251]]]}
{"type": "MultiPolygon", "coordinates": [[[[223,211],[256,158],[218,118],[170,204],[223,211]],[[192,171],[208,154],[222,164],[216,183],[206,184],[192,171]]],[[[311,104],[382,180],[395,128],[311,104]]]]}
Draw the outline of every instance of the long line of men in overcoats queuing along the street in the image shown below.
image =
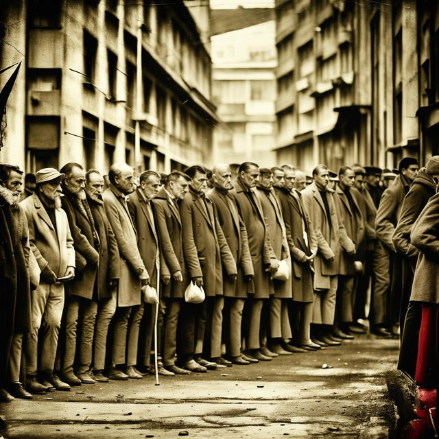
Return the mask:
{"type": "MultiPolygon", "coordinates": [[[[396,215],[381,205],[395,196],[384,192],[377,213],[377,168],[333,178],[318,165],[308,185],[290,165],[232,169],[216,165],[208,179],[194,165],[161,184],[115,163],[104,190],[99,171],[68,163],[27,178],[19,203],[23,171],[0,165],[2,401],[154,374],[156,317],[161,375],[339,346],[367,331],[370,278],[371,329],[389,335],[380,276],[390,268],[376,257],[380,218],[396,215]],[[202,303],[185,301],[189,283],[202,303]]],[[[416,161],[399,172],[387,191],[406,190],[416,161]]]]}

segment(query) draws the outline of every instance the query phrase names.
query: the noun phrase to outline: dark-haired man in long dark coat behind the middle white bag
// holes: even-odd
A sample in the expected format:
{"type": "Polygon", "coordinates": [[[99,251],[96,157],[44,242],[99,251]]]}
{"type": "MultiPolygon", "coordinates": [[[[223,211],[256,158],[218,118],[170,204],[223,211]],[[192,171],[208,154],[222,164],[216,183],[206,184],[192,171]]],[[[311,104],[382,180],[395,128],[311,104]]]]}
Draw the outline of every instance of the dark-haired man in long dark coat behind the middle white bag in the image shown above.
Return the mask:
{"type": "MultiPolygon", "coordinates": [[[[221,357],[222,342],[222,309],[223,296],[223,265],[227,276],[234,280],[237,268],[224,233],[218,224],[215,207],[209,198],[204,196],[207,188],[207,177],[204,168],[194,165],[185,170],[191,178],[189,193],[180,203],[180,216],[183,228],[183,251],[189,278],[202,285],[206,294],[204,302],[191,307],[185,306],[184,327],[188,337],[193,334],[193,353],[195,365],[191,364],[190,356],[183,365],[192,370],[198,365],[216,368],[223,366],[221,357]],[[194,257],[195,254],[197,257],[194,257]],[[193,326],[196,331],[193,331],[193,326]],[[204,358],[202,358],[204,356],[204,358]],[[208,361],[208,359],[217,359],[208,361]]],[[[185,304],[189,305],[189,304],[185,304]]],[[[190,355],[190,354],[189,354],[190,355]]]]}

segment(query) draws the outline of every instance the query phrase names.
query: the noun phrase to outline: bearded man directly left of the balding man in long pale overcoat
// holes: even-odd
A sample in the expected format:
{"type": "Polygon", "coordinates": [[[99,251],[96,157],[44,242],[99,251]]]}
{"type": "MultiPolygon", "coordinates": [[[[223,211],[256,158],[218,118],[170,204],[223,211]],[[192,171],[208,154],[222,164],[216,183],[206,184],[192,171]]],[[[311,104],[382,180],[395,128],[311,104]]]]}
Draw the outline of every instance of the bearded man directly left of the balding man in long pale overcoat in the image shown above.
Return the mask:
{"type": "Polygon", "coordinates": [[[88,206],[99,237],[99,265],[97,267],[96,300],[91,303],[96,309],[95,337],[93,340],[93,379],[108,382],[102,372],[105,368],[108,327],[116,311],[117,283],[119,281],[119,249],[104,208],[102,191],[104,178],[96,169],[85,174],[88,206]]]}

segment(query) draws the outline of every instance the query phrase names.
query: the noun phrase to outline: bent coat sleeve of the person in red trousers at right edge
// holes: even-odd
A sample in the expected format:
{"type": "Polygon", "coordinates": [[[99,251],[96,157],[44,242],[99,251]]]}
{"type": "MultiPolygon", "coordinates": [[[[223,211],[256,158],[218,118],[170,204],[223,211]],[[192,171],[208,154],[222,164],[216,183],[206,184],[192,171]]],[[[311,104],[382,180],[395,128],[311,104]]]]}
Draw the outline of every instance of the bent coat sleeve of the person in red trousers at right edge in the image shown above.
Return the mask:
{"type": "Polygon", "coordinates": [[[427,203],[413,225],[410,235],[412,244],[425,256],[437,260],[439,257],[439,195],[427,203]]]}

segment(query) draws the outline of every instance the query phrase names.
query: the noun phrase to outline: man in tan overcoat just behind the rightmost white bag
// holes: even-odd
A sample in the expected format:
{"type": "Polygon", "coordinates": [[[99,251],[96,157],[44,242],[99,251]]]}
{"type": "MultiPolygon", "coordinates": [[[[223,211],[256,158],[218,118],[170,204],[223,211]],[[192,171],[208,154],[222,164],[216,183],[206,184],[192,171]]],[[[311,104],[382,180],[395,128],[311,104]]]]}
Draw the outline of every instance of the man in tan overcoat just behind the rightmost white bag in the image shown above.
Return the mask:
{"type": "MultiPolygon", "coordinates": [[[[273,182],[271,169],[259,169],[259,183],[254,189],[254,193],[256,193],[261,203],[268,236],[270,237],[270,244],[276,259],[278,261],[285,259],[287,265],[291,268],[285,224],[283,222],[281,206],[274,193],[273,182]]],[[[285,351],[281,346],[283,340],[292,337],[288,317],[289,300],[287,300],[292,298],[291,277],[287,281],[272,279],[270,287],[272,287],[270,300],[267,303],[268,306],[265,309],[264,316],[264,320],[267,322],[265,324],[265,333],[266,338],[268,338],[265,343],[268,344],[268,348],[264,346],[261,348],[261,352],[265,353],[265,355],[270,355],[270,352],[278,355],[291,355],[289,351],[285,351]]]]}

